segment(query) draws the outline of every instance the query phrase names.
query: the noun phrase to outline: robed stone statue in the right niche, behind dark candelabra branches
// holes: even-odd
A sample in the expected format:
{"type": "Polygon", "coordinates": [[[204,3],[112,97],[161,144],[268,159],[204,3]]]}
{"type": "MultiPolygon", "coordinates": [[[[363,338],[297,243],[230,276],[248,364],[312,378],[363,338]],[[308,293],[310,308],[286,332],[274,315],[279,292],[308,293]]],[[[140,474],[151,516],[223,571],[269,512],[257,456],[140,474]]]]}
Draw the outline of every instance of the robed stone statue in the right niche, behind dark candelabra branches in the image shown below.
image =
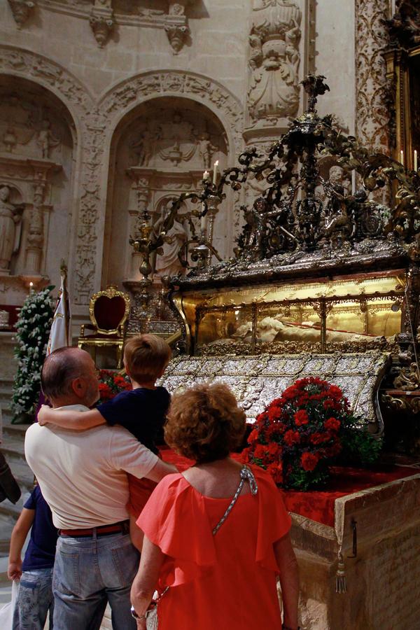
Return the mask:
{"type": "MultiPolygon", "coordinates": [[[[175,197],[174,197],[175,199],[175,197]]],[[[155,234],[159,234],[160,226],[162,222],[172,208],[172,202],[174,199],[170,199],[162,208],[162,214],[158,221],[153,225],[155,234]]],[[[156,256],[155,272],[160,276],[174,276],[181,271],[182,265],[179,259],[179,252],[186,243],[188,235],[186,228],[184,227],[184,218],[181,215],[176,216],[174,225],[169,230],[165,237],[165,243],[162,247],[163,252],[156,256]]]]}

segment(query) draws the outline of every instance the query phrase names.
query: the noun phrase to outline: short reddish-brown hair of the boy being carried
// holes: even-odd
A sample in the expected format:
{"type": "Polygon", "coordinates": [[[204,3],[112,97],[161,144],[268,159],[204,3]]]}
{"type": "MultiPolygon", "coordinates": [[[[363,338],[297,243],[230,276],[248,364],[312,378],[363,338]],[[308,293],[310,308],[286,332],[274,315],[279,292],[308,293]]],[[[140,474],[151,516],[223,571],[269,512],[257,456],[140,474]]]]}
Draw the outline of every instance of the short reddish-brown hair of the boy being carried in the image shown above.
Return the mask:
{"type": "Polygon", "coordinates": [[[137,383],[155,381],[172,356],[165,339],[151,335],[134,335],[124,346],[124,363],[137,383]]]}

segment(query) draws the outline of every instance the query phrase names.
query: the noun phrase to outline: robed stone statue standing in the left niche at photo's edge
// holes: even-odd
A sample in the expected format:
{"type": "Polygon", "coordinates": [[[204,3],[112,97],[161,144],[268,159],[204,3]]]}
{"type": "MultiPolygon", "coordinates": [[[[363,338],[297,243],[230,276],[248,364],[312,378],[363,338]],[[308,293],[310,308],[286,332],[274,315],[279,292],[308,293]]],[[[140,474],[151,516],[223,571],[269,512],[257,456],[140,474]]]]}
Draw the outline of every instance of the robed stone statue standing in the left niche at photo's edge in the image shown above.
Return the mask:
{"type": "Polygon", "coordinates": [[[13,253],[20,245],[23,205],[9,202],[10,188],[0,188],[0,272],[8,272],[13,253]]]}

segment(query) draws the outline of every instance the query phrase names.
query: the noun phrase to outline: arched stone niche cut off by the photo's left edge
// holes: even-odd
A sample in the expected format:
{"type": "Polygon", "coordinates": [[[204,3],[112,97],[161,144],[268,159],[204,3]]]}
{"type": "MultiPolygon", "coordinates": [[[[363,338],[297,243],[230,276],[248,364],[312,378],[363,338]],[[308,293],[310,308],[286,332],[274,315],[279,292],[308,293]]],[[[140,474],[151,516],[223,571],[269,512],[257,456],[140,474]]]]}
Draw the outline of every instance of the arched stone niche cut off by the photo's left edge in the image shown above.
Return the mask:
{"type": "Polygon", "coordinates": [[[68,255],[62,237],[70,230],[73,145],[69,113],[55,95],[0,76],[3,304],[21,304],[30,281],[59,280],[59,259],[68,255]]]}

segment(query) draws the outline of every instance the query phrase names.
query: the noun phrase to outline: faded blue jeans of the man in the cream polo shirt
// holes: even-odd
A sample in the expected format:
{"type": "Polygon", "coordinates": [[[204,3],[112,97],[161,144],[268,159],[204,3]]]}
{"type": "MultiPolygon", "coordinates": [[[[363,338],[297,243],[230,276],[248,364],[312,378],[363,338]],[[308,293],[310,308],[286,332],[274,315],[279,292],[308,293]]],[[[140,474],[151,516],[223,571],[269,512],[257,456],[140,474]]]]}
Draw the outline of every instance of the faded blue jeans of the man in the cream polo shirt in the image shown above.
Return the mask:
{"type": "Polygon", "coordinates": [[[54,630],[99,630],[107,601],[113,630],[136,630],[130,589],[139,560],[128,534],[59,536],[52,578],[54,630]]]}

